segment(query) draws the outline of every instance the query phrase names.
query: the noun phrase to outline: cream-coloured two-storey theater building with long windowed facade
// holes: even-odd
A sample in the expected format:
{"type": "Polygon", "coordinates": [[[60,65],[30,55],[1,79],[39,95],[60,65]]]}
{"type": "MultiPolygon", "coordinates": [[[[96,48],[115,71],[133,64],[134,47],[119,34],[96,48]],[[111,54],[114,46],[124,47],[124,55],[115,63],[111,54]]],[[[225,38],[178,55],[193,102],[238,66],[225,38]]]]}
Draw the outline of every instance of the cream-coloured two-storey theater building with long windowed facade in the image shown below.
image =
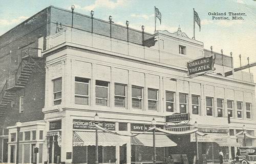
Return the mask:
{"type": "MultiPolygon", "coordinates": [[[[153,118],[157,127],[170,131],[187,131],[197,122],[199,131],[207,134],[198,136],[199,163],[217,163],[220,149],[228,161],[237,147],[256,145],[253,76],[235,72],[231,57],[205,49],[203,42],[180,28],[148,34],[79,13],[74,13],[71,28],[71,11],[49,7],[48,16],[50,33],[41,53],[44,120],[22,123],[22,162],[28,161],[25,150],[35,146],[41,150],[39,163],[94,163],[96,113],[103,128],[143,133],[131,138],[100,131],[100,163],[152,161],[153,135],[144,131],[153,118]],[[215,70],[189,78],[187,62],[211,56],[215,70]],[[177,113],[188,114],[189,119],[166,122],[166,116],[177,113]],[[31,131],[30,137],[26,131],[31,131]],[[31,141],[29,146],[26,141],[31,141]]],[[[8,162],[15,162],[11,154],[17,126],[8,129],[8,162]]],[[[195,134],[157,132],[156,139],[157,161],[186,154],[193,162],[195,134]]]]}

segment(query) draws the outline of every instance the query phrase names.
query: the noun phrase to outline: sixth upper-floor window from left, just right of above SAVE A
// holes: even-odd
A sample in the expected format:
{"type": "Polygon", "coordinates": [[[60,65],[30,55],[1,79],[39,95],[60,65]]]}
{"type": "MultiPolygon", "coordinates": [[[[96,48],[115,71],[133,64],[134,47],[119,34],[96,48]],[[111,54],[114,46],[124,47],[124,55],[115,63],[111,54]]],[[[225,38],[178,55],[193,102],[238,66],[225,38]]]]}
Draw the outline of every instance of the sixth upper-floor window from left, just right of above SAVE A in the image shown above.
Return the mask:
{"type": "Polygon", "coordinates": [[[148,101],[148,110],[157,111],[157,104],[158,104],[158,90],[156,89],[147,89],[147,101],[148,101]]]}

